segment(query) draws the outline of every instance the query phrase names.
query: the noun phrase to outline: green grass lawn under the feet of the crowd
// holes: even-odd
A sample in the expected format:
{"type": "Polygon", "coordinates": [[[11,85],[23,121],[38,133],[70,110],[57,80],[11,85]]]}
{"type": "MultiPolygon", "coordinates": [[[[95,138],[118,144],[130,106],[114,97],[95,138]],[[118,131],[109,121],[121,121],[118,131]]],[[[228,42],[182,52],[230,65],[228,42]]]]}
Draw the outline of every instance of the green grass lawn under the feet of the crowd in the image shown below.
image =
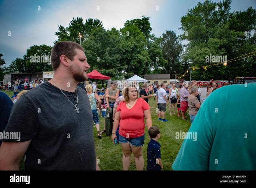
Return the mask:
{"type": "MultiPolygon", "coordinates": [[[[4,91],[8,96],[12,96],[13,92],[4,91]]],[[[161,157],[163,162],[163,170],[172,170],[172,164],[175,160],[178,151],[180,150],[182,139],[175,139],[176,132],[187,132],[190,127],[189,115],[187,120],[181,120],[177,115],[169,115],[169,105],[165,112],[168,122],[159,122],[157,116],[157,104],[153,97],[149,99],[151,108],[151,118],[153,126],[158,126],[161,131],[161,138],[158,140],[161,144],[161,157]]],[[[100,117],[100,130],[103,130],[104,118],[100,117]]],[[[120,144],[113,145],[110,137],[105,137],[103,134],[102,139],[97,138],[97,130],[94,127],[94,141],[97,159],[99,159],[99,167],[101,170],[123,170],[122,156],[123,152],[120,144]]],[[[147,166],[147,144],[149,142],[147,128],[145,127],[145,142],[143,147],[144,157],[144,170],[147,166]]],[[[24,169],[24,163],[21,164],[21,169],[24,169]]],[[[136,170],[135,160],[132,155],[130,170],[136,170]]]]}

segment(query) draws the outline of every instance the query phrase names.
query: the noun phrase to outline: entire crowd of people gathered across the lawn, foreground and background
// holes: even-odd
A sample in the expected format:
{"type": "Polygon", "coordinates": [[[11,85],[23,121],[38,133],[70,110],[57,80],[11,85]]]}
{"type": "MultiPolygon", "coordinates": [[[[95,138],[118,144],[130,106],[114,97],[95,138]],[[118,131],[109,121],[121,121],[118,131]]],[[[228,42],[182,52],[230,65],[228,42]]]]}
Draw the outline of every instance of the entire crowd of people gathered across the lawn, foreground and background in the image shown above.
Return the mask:
{"type": "Polygon", "coordinates": [[[246,93],[246,101],[256,103],[253,96],[255,84],[251,84],[248,89],[237,85],[215,92],[217,84],[213,82],[212,87],[208,89],[209,99],[201,106],[201,92],[197,85],[186,83],[176,88],[176,84],[172,84],[167,94],[165,83],[149,86],[143,84],[140,88],[134,81],[123,88],[120,96],[119,89],[116,88],[117,83],[111,81],[111,87],[106,89],[104,96],[108,115],[105,117],[104,129],[100,131],[97,109],[102,107],[102,100],[95,92],[96,84],[86,87],[81,85],[87,80],[86,72],[90,68],[83,47],[70,41],[57,42],[52,48],[52,67],[53,78],[44,84],[35,82],[35,88],[33,86],[31,91],[19,93],[15,104],[10,102],[6,94],[0,92],[3,104],[0,117],[4,122],[0,132],[5,130],[20,133],[20,141],[0,139],[0,170],[18,170],[25,153],[27,170],[100,170],[95,154],[93,124],[99,139],[102,134],[110,132],[113,144],[120,143],[124,170],[129,170],[131,154],[135,157],[136,169],[143,170],[146,127],[150,137],[146,169],[161,170],[163,162],[161,144],[158,142],[161,134],[159,127],[152,124],[148,104],[148,100],[153,96],[158,106],[159,122],[168,121],[165,112],[169,103],[169,117],[176,115],[177,108],[177,116],[186,119],[189,108],[192,123],[189,132],[198,133],[197,142],[189,139],[183,142],[172,165],[174,170],[256,169],[256,150],[250,147],[255,143],[255,140],[250,139],[256,131],[256,127],[251,126],[256,124],[254,114],[247,113],[250,122],[241,126],[243,115],[250,110],[255,112],[255,108],[245,106],[244,103],[236,104],[236,107],[242,107],[239,109],[246,112],[241,112],[233,119],[227,118],[230,116],[227,113],[234,109],[233,100],[240,97],[237,93],[241,96],[246,93]],[[221,97],[218,98],[219,96],[221,97]],[[203,109],[199,110],[200,108],[203,109]],[[224,115],[218,113],[218,109],[224,115]],[[197,116],[199,117],[196,118],[197,116]],[[235,130],[234,127],[239,131],[231,131],[235,130]],[[235,134],[235,141],[223,138],[223,132],[228,138],[235,134]],[[226,147],[223,147],[224,145],[226,147]],[[246,150],[248,154],[243,155],[237,147],[246,150]],[[225,157],[229,161],[226,161],[225,157]],[[219,165],[216,165],[216,159],[219,159],[219,165]],[[234,161],[241,162],[234,165],[234,161]]]}

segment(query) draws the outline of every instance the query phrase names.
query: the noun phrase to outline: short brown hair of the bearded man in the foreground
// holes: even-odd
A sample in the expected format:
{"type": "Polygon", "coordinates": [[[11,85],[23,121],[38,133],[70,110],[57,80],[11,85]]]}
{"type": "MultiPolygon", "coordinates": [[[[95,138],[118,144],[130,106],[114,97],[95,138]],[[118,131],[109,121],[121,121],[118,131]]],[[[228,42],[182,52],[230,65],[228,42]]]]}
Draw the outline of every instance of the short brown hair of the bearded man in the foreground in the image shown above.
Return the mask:
{"type": "Polygon", "coordinates": [[[57,42],[53,46],[52,53],[51,53],[53,71],[56,70],[60,65],[61,55],[67,56],[72,61],[74,56],[76,55],[75,49],[82,50],[84,52],[83,47],[76,42],[72,42],[72,41],[57,42]]]}

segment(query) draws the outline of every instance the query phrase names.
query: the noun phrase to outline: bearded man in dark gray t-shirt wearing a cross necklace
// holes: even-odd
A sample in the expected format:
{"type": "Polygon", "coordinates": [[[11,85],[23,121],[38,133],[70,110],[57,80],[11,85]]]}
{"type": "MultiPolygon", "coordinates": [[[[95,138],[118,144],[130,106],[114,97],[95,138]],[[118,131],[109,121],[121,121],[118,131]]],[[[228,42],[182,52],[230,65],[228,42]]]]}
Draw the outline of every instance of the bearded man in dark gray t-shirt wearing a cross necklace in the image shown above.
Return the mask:
{"type": "Polygon", "coordinates": [[[58,42],[52,49],[53,79],[25,93],[12,108],[2,139],[0,170],[96,170],[93,114],[77,83],[90,68],[78,43],[58,42]]]}

